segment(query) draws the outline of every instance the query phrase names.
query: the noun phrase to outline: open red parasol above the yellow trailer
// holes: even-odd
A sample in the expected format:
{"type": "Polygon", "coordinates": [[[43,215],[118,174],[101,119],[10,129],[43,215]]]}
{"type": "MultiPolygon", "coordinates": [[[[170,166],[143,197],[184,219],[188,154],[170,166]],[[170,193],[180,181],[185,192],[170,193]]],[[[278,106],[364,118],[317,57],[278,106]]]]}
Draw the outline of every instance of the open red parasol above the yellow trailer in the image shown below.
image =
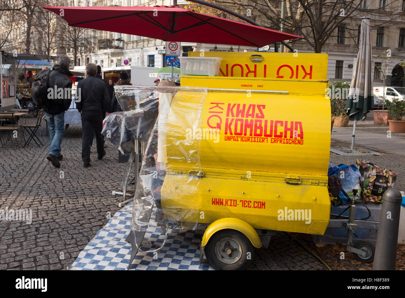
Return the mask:
{"type": "Polygon", "coordinates": [[[43,6],[70,26],[133,34],[164,41],[262,47],[301,38],[179,6],[43,6]]]}

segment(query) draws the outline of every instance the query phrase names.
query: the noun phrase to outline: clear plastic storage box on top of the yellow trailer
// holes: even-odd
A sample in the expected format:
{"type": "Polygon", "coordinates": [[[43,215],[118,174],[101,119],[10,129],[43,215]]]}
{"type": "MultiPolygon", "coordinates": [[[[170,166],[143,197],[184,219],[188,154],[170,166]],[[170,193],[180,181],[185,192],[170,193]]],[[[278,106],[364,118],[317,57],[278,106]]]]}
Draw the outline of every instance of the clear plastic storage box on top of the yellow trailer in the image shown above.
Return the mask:
{"type": "Polygon", "coordinates": [[[179,57],[181,75],[209,75],[220,73],[220,57],[179,57]]]}

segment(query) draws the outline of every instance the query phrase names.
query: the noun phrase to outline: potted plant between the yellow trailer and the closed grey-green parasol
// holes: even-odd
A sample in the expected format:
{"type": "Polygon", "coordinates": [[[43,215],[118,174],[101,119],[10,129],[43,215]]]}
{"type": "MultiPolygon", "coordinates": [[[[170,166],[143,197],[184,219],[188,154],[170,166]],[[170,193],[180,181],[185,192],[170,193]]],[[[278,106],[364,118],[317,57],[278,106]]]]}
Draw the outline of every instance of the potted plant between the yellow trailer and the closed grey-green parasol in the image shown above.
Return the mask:
{"type": "Polygon", "coordinates": [[[345,105],[350,84],[343,80],[330,82],[329,99],[330,111],[332,114],[331,128],[345,127],[349,123],[349,116],[346,115],[345,105]]]}

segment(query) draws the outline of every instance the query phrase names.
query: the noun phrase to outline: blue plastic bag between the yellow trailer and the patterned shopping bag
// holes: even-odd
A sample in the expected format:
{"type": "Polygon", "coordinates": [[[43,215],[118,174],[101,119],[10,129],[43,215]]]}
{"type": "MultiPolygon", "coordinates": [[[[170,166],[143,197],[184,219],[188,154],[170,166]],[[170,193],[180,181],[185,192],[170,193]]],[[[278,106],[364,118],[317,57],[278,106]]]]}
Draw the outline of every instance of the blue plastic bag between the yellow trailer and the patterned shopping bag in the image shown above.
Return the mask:
{"type": "MultiPolygon", "coordinates": [[[[361,191],[361,174],[355,165],[340,164],[337,167],[330,167],[328,176],[338,176],[342,182],[343,187],[336,200],[333,200],[335,206],[346,204],[353,199],[353,189],[357,189],[358,195],[361,191]]],[[[355,201],[360,201],[359,196],[356,196],[355,201]]]]}

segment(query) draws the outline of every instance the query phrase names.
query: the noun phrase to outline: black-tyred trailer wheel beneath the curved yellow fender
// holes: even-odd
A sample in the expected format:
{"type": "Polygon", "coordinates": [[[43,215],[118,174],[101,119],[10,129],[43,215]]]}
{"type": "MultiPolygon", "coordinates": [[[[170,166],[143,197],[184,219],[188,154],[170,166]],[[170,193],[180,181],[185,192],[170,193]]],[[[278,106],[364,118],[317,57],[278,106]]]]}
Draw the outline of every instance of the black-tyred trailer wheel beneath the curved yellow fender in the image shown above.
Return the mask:
{"type": "Polygon", "coordinates": [[[205,247],[205,256],[216,270],[245,270],[254,257],[252,242],[241,232],[216,232],[205,247]]]}

